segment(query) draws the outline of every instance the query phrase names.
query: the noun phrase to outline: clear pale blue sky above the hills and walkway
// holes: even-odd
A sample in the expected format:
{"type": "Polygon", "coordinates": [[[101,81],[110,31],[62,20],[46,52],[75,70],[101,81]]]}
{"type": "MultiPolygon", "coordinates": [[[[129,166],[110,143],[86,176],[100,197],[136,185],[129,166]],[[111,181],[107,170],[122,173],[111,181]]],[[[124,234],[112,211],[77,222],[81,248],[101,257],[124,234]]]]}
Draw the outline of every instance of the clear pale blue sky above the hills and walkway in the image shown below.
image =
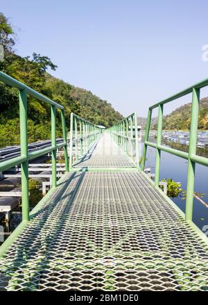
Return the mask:
{"type": "Polygon", "coordinates": [[[15,26],[17,53],[49,56],[58,65],[51,74],[123,115],[146,116],[208,77],[207,0],[7,0],[0,10],[15,26]]]}

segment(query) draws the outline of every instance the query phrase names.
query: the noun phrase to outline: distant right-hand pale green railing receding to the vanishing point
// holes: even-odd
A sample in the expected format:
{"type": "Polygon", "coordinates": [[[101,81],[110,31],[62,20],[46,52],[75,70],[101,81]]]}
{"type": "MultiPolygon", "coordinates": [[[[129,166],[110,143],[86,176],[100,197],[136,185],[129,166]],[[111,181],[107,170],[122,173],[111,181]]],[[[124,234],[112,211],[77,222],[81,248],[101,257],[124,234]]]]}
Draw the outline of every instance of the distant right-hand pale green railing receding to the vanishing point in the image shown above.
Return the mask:
{"type": "Polygon", "coordinates": [[[134,160],[137,167],[139,167],[139,138],[138,138],[138,125],[137,113],[132,113],[125,119],[108,129],[112,134],[114,140],[125,151],[125,154],[134,160]]]}

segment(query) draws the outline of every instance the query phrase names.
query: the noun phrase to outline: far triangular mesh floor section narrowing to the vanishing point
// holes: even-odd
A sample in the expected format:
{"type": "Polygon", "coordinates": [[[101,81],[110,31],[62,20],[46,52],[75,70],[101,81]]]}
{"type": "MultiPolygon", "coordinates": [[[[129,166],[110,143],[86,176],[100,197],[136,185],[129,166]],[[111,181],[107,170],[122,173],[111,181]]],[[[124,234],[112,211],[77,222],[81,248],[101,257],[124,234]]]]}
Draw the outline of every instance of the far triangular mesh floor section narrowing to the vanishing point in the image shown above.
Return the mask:
{"type": "Polygon", "coordinates": [[[89,153],[74,163],[73,167],[135,167],[135,163],[112,140],[110,134],[105,132],[89,153]]]}

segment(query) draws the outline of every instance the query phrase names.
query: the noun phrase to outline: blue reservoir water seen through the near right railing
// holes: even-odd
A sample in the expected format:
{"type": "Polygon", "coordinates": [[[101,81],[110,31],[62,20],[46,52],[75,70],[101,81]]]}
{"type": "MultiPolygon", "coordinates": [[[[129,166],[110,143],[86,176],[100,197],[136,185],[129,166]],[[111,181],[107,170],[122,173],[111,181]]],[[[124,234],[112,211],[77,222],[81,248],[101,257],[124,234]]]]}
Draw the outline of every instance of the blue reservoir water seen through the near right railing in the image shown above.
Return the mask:
{"type": "MultiPolygon", "coordinates": [[[[150,138],[150,142],[155,142],[155,138],[150,138]]],[[[188,145],[172,143],[164,141],[163,145],[170,146],[182,151],[188,151],[188,145]]],[[[143,144],[142,144],[143,147],[143,144]]],[[[197,154],[208,158],[208,149],[198,148],[197,154]]],[[[146,167],[151,168],[151,172],[155,173],[155,149],[148,147],[146,156],[146,167]]],[[[161,152],[160,179],[172,178],[176,182],[182,184],[182,189],[187,188],[187,160],[173,156],[164,151],[161,152]]],[[[208,204],[208,167],[196,165],[195,192],[204,193],[202,200],[208,204]]],[[[185,200],[178,196],[172,199],[182,211],[185,211],[185,200]]],[[[200,203],[197,199],[193,199],[193,222],[202,230],[203,226],[208,225],[208,208],[200,203]]]]}

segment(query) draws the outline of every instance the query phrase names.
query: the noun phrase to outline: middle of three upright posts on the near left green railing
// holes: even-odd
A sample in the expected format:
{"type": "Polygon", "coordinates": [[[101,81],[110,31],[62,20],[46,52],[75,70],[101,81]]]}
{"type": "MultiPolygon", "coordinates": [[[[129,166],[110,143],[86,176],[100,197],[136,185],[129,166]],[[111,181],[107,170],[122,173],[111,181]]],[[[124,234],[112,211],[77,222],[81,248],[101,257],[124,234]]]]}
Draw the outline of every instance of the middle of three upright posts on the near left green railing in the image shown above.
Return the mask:
{"type": "Polygon", "coordinates": [[[52,157],[52,188],[56,187],[56,139],[55,139],[55,105],[51,105],[51,151],[52,157]]]}

